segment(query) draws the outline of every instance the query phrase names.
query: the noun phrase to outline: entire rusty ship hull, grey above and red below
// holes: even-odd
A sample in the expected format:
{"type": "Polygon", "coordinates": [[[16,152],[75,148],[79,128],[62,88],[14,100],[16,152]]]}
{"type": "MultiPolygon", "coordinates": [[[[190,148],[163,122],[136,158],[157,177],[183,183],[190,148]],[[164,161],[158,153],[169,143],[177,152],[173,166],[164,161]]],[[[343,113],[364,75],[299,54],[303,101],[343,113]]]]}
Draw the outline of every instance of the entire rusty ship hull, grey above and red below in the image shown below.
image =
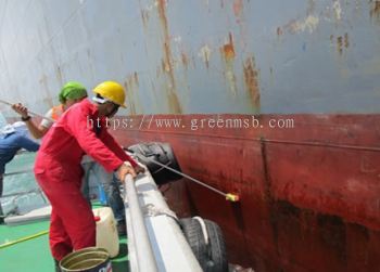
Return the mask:
{"type": "Polygon", "coordinates": [[[0,94],[45,113],[68,80],[123,82],[123,145],[169,142],[183,172],[240,195],[162,187],[221,226],[230,262],[378,271],[379,37],[378,0],[3,0],[0,94]]]}

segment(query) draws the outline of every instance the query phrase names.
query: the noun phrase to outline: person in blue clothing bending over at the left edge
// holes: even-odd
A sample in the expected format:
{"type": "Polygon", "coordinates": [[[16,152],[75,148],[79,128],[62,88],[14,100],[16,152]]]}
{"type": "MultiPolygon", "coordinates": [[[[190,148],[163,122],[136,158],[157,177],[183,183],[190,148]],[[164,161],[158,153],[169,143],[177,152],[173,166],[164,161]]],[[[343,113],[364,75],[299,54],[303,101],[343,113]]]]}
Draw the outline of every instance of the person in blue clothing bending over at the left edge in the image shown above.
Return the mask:
{"type": "MultiPolygon", "coordinates": [[[[2,195],[5,165],[13,159],[21,148],[36,152],[38,147],[39,144],[28,137],[26,126],[21,121],[7,125],[0,130],[0,196],[2,195]]],[[[3,212],[0,203],[0,223],[2,222],[3,212]]]]}

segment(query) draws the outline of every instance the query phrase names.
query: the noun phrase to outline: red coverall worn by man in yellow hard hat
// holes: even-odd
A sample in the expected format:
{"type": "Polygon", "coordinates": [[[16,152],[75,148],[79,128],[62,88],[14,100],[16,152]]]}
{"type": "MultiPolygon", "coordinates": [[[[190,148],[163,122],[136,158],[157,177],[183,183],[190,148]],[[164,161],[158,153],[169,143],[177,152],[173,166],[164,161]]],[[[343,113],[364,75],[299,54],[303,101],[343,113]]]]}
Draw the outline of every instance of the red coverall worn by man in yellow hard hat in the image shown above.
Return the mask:
{"type": "Polygon", "coordinates": [[[96,222],[80,192],[84,154],[107,171],[124,161],[137,166],[106,131],[104,119],[96,129],[97,120],[97,106],[88,100],[73,105],[45,135],[37,155],[35,176],[52,206],[49,241],[56,260],[73,249],[96,245],[96,222]]]}

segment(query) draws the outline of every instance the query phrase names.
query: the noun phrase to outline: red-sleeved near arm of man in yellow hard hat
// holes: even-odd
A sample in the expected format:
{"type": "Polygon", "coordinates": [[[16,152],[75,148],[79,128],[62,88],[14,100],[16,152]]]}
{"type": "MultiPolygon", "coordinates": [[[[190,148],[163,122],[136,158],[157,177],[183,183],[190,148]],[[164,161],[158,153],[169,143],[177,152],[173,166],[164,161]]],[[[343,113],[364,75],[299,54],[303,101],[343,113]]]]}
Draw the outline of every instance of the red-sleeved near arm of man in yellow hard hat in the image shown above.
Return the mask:
{"type": "Polygon", "coordinates": [[[107,171],[115,171],[124,161],[118,158],[100,139],[97,138],[87,120],[89,113],[86,108],[71,108],[62,122],[64,129],[75,137],[80,147],[107,171]]]}

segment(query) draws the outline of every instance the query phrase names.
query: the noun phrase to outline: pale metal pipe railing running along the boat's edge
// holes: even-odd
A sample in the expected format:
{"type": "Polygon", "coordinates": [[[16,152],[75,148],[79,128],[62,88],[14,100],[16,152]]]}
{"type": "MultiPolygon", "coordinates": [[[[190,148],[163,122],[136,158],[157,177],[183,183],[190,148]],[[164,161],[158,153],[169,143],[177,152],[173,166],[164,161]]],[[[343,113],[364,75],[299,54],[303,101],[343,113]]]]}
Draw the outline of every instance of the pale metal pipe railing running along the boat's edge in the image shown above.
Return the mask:
{"type": "MultiPolygon", "coordinates": [[[[136,272],[157,272],[157,264],[154,258],[153,248],[149,239],[148,230],[140,208],[134,178],[127,174],[124,180],[124,202],[129,208],[130,224],[134,239],[136,241],[136,257],[138,270],[136,272]]],[[[126,215],[127,215],[126,208],[126,215]]]]}

